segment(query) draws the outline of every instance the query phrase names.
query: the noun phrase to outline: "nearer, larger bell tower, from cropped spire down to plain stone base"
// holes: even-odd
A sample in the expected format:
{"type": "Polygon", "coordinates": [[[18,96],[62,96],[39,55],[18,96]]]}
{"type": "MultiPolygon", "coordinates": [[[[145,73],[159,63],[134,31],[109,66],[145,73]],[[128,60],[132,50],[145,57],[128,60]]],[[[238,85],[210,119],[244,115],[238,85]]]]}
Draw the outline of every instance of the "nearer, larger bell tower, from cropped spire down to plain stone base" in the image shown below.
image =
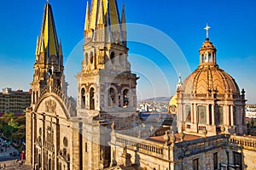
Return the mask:
{"type": "Polygon", "coordinates": [[[77,75],[77,113],[85,169],[110,166],[111,124],[116,130],[133,127],[137,108],[137,75],[127,60],[125,5],[121,17],[116,0],[87,2],[84,24],[84,59],[77,75]],[[85,148],[86,148],[85,147],[85,148]],[[85,149],[84,149],[85,150],[85,149]]]}

